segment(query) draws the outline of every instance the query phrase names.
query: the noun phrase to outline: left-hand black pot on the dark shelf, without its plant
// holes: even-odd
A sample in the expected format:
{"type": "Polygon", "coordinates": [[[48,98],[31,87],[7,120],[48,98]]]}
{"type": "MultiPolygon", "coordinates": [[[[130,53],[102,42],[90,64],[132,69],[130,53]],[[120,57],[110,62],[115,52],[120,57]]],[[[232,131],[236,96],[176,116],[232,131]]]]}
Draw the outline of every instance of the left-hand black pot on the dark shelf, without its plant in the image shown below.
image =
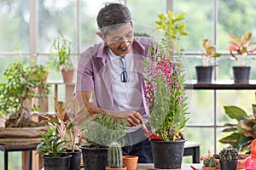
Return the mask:
{"type": "Polygon", "coordinates": [[[212,83],[213,66],[195,66],[197,83],[212,83]]]}

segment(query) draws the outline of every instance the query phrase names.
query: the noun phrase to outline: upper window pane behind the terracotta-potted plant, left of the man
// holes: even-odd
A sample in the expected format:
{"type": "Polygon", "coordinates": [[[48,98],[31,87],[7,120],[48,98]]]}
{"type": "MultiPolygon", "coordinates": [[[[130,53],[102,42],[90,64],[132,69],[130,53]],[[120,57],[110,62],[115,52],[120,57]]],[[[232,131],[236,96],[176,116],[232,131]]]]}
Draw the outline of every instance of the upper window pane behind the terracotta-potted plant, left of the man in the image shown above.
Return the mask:
{"type": "Polygon", "coordinates": [[[77,47],[77,20],[75,0],[38,1],[38,53],[49,53],[49,48],[58,31],[72,42],[72,52],[77,47]]]}

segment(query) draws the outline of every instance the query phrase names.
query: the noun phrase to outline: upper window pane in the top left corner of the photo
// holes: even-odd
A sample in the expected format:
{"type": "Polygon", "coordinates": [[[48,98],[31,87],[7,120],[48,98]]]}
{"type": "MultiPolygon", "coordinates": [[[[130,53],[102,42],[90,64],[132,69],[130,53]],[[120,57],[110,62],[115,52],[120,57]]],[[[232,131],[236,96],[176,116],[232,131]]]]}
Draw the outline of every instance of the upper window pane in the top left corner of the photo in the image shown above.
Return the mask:
{"type": "Polygon", "coordinates": [[[28,0],[0,2],[1,51],[29,51],[29,2],[28,0]]]}

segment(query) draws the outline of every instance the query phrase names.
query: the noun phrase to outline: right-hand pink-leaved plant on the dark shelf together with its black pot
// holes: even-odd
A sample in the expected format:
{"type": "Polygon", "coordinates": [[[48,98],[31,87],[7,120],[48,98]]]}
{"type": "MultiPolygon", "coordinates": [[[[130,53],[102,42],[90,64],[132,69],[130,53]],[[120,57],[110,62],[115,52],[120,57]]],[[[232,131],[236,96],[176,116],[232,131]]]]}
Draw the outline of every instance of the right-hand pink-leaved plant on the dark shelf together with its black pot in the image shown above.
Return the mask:
{"type": "Polygon", "coordinates": [[[230,55],[232,58],[236,59],[240,62],[239,66],[233,66],[233,75],[234,75],[234,82],[235,83],[248,83],[250,79],[250,66],[245,66],[246,62],[244,61],[244,58],[247,56],[247,54],[253,54],[256,48],[253,48],[253,45],[256,44],[256,42],[250,42],[250,39],[253,37],[253,34],[251,32],[246,31],[241,38],[236,37],[233,34],[229,34],[232,41],[229,41],[231,43],[230,47],[228,49],[230,50],[230,55]],[[236,54],[234,54],[234,52],[236,54]],[[237,57],[236,55],[239,55],[237,57]]]}

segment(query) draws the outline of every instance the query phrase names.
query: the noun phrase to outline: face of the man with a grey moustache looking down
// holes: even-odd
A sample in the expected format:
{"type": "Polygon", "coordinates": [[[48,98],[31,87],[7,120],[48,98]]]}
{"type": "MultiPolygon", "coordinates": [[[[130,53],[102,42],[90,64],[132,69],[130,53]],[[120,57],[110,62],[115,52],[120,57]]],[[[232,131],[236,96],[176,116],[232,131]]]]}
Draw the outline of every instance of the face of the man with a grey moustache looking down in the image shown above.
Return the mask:
{"type": "Polygon", "coordinates": [[[107,42],[113,54],[118,56],[129,54],[133,42],[133,28],[131,27],[131,23],[127,23],[118,30],[108,31],[108,34],[106,37],[103,36],[102,40],[107,42]]]}

